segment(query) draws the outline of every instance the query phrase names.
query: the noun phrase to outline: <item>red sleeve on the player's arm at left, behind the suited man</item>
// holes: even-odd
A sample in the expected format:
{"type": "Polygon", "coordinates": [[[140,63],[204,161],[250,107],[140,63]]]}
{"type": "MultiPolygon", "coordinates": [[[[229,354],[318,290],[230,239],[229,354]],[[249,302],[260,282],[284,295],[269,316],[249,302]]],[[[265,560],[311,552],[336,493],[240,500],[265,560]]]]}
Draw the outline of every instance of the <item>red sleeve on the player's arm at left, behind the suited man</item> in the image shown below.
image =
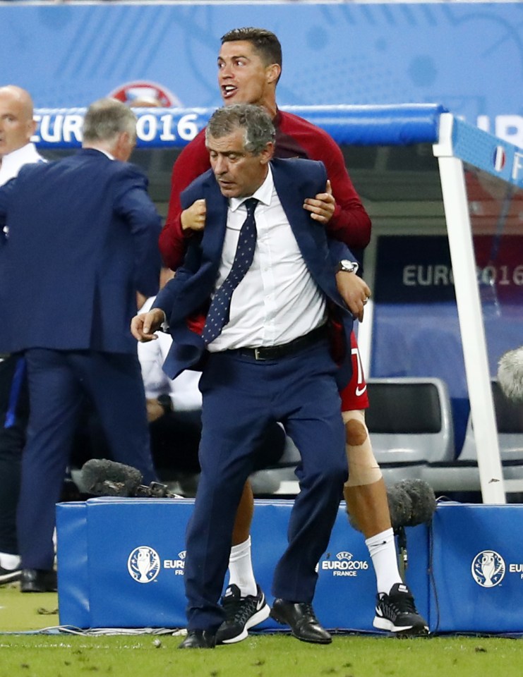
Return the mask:
{"type": "Polygon", "coordinates": [[[209,167],[209,153],[205,148],[205,130],[202,130],[182,150],[172,168],[169,211],[158,240],[164,265],[172,270],[176,270],[184,260],[188,237],[181,228],[180,193],[209,167]]]}

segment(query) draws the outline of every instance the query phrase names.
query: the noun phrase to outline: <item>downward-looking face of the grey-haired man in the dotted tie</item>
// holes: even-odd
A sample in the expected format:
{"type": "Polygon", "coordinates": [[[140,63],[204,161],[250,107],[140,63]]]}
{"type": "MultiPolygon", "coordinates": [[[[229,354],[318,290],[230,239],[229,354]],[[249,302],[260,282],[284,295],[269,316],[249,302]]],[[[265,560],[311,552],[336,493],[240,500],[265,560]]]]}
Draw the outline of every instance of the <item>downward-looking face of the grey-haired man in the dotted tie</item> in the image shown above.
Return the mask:
{"type": "Polygon", "coordinates": [[[209,136],[207,149],[210,166],[225,197],[249,197],[265,181],[272,143],[253,155],[244,149],[244,130],[238,128],[218,139],[209,136]]]}

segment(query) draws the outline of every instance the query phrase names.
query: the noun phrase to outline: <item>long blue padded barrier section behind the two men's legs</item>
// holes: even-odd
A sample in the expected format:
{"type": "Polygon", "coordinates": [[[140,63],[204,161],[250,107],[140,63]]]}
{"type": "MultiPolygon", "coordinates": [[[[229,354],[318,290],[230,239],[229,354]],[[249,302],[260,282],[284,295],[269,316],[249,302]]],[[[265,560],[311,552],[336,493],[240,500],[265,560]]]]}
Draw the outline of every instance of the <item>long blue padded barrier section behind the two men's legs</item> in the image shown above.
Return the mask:
{"type": "MultiPolygon", "coordinates": [[[[79,628],[184,627],[184,534],[191,499],[90,499],[59,504],[59,615],[79,628]]],[[[269,603],[292,501],[256,501],[253,563],[269,603]]],[[[407,530],[409,585],[428,617],[428,530],[407,530]]],[[[342,504],[318,563],[314,606],[325,627],[373,631],[375,575],[363,535],[342,504]]],[[[281,630],[268,619],[257,629],[281,630]]]]}

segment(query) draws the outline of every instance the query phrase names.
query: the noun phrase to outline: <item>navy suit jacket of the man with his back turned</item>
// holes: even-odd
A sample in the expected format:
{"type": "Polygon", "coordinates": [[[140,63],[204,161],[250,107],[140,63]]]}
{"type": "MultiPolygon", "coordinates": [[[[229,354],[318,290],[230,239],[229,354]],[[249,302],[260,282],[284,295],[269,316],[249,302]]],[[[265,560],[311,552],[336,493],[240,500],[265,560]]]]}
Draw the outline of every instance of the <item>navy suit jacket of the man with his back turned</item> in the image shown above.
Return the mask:
{"type": "Polygon", "coordinates": [[[136,291],[157,292],[161,221],[131,164],[83,149],[0,188],[0,351],[136,353],[136,291]]]}

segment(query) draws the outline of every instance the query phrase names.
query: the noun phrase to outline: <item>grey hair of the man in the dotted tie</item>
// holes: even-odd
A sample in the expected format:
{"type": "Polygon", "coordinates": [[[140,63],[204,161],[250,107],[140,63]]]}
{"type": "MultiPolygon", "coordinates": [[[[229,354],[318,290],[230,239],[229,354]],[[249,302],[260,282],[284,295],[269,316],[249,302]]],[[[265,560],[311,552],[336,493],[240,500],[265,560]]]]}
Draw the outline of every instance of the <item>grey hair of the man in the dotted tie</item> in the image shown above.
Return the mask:
{"type": "Polygon", "coordinates": [[[244,130],[244,150],[258,155],[267,143],[276,138],[275,127],[269,114],[261,106],[234,104],[215,111],[205,129],[205,141],[209,137],[220,139],[236,129],[244,130]]]}

